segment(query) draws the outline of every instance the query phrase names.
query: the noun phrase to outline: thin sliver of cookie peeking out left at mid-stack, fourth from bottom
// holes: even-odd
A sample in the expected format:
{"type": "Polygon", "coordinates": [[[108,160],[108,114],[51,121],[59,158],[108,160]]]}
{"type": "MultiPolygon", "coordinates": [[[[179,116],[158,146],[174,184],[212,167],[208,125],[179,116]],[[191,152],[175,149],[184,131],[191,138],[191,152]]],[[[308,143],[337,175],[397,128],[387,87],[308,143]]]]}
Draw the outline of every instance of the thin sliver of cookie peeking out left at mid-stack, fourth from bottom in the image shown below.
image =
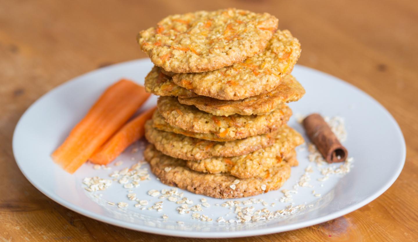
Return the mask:
{"type": "Polygon", "coordinates": [[[162,130],[162,131],[173,132],[173,133],[176,133],[176,134],[182,134],[184,136],[193,137],[193,138],[196,138],[196,139],[205,139],[205,140],[219,141],[219,142],[235,140],[235,139],[219,138],[212,133],[207,133],[207,134],[194,133],[194,132],[186,131],[184,129],[180,129],[180,128],[171,126],[170,124],[168,124],[166,122],[164,117],[161,116],[161,113],[158,112],[158,109],[155,110],[155,112],[153,114],[153,127],[155,129],[159,129],[159,130],[162,130]]]}

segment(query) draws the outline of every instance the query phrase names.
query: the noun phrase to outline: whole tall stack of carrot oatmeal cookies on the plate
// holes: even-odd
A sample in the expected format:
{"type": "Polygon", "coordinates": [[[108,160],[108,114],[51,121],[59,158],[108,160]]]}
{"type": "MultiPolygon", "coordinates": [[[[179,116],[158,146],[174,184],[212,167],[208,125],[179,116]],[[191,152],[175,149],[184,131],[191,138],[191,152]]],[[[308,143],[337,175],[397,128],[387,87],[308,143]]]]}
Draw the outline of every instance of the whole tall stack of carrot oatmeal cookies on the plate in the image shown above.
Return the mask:
{"type": "Polygon", "coordinates": [[[234,8],[171,15],[138,34],[160,96],[145,124],[145,159],[165,184],[216,198],[278,189],[303,138],[286,105],[305,90],[291,71],[301,53],[274,16],[234,8]]]}

